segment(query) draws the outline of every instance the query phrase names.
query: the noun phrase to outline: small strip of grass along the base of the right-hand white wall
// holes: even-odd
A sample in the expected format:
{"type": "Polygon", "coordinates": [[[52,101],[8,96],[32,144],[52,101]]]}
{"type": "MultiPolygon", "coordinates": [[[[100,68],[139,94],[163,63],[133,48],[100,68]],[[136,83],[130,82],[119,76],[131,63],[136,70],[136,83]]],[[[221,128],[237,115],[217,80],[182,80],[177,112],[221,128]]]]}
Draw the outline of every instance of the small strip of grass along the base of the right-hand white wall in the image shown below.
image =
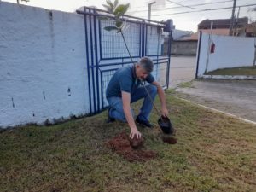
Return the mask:
{"type": "Polygon", "coordinates": [[[235,67],[217,69],[208,72],[207,75],[256,75],[256,67],[235,67]]]}

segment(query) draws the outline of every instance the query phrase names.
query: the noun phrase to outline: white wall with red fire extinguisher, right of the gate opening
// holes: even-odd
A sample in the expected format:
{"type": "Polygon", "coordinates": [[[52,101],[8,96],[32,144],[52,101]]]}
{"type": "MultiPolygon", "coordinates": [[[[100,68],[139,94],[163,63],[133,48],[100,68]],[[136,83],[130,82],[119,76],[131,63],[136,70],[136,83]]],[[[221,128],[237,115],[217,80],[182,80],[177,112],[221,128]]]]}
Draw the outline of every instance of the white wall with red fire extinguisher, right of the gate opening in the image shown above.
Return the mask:
{"type": "MultiPolygon", "coordinates": [[[[209,34],[202,33],[198,77],[205,73],[207,67],[208,38],[209,34]]],[[[207,72],[221,68],[253,66],[254,38],[212,35],[212,41],[215,51],[209,54],[207,72]]]]}

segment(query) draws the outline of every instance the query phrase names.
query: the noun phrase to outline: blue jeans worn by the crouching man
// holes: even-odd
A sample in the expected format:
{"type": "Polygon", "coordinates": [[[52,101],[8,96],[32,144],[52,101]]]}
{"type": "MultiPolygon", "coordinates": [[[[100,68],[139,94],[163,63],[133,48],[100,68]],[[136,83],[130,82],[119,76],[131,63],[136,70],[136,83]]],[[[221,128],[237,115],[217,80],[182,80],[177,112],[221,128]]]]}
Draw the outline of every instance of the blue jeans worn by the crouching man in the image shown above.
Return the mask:
{"type": "MultiPolygon", "coordinates": [[[[140,113],[138,114],[138,118],[141,120],[148,120],[149,114],[153,108],[153,104],[148,94],[151,96],[153,101],[157,94],[156,86],[152,84],[148,84],[145,87],[148,90],[148,93],[144,87],[134,88],[133,90],[131,90],[131,103],[137,102],[139,99],[144,98],[143,106],[140,109],[140,113]]],[[[118,96],[112,96],[112,97],[108,97],[107,99],[110,107],[109,116],[111,118],[118,119],[123,122],[127,122],[125,118],[124,109],[123,109],[122,98],[118,96]]],[[[134,117],[133,110],[131,110],[131,113],[134,117]]]]}

